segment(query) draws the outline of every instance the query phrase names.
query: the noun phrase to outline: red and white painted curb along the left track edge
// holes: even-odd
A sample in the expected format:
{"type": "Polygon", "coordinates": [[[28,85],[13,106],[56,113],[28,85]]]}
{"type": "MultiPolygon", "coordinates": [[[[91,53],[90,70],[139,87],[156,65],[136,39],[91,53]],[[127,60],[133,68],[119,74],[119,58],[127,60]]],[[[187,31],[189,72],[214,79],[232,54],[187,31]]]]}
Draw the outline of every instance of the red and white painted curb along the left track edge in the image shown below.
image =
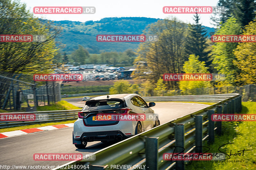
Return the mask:
{"type": "Polygon", "coordinates": [[[39,127],[39,128],[23,129],[23,130],[19,130],[19,131],[2,132],[2,133],[0,133],[0,138],[8,138],[8,137],[13,137],[13,136],[25,135],[28,133],[49,131],[49,130],[67,128],[67,127],[74,127],[74,123],[43,126],[43,127],[39,127]]]}

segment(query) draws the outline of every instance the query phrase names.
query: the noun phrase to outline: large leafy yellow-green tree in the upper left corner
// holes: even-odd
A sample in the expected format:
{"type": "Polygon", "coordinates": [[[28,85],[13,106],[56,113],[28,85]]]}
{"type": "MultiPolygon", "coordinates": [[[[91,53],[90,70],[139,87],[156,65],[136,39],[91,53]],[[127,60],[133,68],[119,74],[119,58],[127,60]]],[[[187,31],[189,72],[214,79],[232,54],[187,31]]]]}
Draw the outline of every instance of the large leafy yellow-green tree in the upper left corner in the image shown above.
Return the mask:
{"type": "Polygon", "coordinates": [[[43,42],[0,42],[0,71],[8,73],[49,73],[57,54],[55,38],[60,30],[47,20],[34,18],[19,1],[0,1],[1,34],[45,35],[43,42]]]}

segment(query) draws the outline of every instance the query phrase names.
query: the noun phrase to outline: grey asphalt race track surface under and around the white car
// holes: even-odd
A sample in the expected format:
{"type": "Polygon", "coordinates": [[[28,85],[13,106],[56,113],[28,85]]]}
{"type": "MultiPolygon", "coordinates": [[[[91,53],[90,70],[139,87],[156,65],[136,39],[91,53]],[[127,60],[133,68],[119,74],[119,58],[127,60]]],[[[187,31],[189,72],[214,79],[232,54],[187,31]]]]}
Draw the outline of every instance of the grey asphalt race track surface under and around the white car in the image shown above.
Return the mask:
{"type": "MultiPolygon", "coordinates": [[[[75,106],[84,106],[82,98],[66,99],[75,106]]],[[[195,103],[156,103],[152,107],[155,113],[159,114],[160,124],[172,119],[179,118],[201,110],[208,105],[195,103]]],[[[10,166],[58,166],[69,161],[35,161],[35,153],[82,153],[83,155],[96,152],[111,144],[101,142],[89,142],[86,149],[77,149],[72,144],[73,128],[63,128],[52,131],[31,133],[22,136],[0,139],[0,162],[1,165],[10,166]]],[[[0,168],[5,169],[5,168],[0,168]]],[[[7,168],[6,168],[7,169],[7,168]]],[[[17,169],[17,168],[16,168],[17,169]]],[[[24,168],[19,168],[24,169],[24,168]]],[[[45,168],[49,169],[49,168],[45,168]]]]}

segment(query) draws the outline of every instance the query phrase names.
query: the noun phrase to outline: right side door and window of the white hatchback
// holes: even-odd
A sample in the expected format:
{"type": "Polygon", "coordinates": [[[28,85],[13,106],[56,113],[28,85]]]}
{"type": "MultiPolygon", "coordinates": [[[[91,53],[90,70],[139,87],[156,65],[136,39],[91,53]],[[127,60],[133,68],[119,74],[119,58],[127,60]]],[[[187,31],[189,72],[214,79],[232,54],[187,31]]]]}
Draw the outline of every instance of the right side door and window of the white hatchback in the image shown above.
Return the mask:
{"type": "Polygon", "coordinates": [[[142,113],[146,115],[146,119],[143,121],[145,125],[145,131],[151,129],[154,125],[153,110],[148,107],[147,103],[139,96],[135,97],[139,107],[142,109],[142,113]]]}

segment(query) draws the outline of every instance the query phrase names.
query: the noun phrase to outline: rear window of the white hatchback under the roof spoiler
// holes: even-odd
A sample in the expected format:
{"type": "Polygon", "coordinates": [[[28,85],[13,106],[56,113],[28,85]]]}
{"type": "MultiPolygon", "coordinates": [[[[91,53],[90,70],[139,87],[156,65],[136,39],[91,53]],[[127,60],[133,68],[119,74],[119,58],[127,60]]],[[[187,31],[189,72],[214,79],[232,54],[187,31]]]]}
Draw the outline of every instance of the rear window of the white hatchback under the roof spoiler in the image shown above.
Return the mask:
{"type": "Polygon", "coordinates": [[[118,109],[124,108],[124,101],[120,100],[100,100],[100,101],[87,101],[83,110],[104,110],[104,109],[118,109]]]}

